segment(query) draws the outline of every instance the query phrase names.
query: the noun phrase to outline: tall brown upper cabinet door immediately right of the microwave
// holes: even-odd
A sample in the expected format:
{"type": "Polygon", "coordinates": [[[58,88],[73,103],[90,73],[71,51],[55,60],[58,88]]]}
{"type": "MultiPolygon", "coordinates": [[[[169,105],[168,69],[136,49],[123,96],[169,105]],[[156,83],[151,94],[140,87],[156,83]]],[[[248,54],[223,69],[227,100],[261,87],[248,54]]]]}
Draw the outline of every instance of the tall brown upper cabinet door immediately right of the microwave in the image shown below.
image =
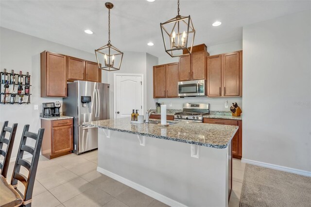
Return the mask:
{"type": "Polygon", "coordinates": [[[222,55],[207,57],[207,96],[222,96],[222,55]]]}

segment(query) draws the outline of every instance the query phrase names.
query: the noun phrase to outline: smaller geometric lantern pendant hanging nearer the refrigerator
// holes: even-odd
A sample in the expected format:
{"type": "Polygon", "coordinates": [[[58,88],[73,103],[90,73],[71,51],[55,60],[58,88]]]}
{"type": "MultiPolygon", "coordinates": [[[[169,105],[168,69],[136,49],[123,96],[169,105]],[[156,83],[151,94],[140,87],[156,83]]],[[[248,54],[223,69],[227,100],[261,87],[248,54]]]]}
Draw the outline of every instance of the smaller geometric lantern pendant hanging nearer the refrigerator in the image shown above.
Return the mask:
{"type": "Polygon", "coordinates": [[[108,71],[119,70],[122,63],[123,52],[110,43],[110,9],[113,8],[113,4],[106,2],[105,6],[108,9],[108,44],[95,50],[95,55],[98,68],[108,71]]]}

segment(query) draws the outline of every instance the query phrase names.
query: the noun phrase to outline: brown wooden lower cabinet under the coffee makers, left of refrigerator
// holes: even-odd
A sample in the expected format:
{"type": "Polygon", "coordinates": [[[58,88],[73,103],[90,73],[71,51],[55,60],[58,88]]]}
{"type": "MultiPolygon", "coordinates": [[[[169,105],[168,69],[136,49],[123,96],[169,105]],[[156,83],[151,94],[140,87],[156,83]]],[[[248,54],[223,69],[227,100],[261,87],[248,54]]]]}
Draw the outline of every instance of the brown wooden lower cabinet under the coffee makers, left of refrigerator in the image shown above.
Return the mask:
{"type": "Polygon", "coordinates": [[[41,128],[45,128],[42,140],[42,155],[52,159],[70,154],[73,150],[72,119],[43,120],[41,128]]]}

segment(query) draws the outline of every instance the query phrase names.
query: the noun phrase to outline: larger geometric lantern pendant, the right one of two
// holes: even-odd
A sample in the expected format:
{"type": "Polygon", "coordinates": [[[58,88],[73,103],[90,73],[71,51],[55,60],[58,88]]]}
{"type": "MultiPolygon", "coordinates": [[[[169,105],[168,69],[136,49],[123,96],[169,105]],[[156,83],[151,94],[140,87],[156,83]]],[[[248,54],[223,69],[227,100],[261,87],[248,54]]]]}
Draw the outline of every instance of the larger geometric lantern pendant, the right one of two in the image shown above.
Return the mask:
{"type": "Polygon", "coordinates": [[[191,54],[195,29],[190,15],[179,15],[179,0],[177,0],[177,16],[160,23],[160,26],[165,52],[172,57],[191,54]],[[188,48],[188,43],[190,43],[190,48],[188,48]]]}

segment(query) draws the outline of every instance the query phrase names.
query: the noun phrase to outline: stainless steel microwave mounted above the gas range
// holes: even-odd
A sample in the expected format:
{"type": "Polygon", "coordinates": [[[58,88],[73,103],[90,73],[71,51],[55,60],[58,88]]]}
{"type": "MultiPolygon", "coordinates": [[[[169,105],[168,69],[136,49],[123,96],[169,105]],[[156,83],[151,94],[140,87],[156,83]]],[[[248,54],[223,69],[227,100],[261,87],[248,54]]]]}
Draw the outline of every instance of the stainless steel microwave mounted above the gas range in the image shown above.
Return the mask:
{"type": "Polygon", "coordinates": [[[178,96],[205,96],[205,80],[178,82],[178,96]]]}

